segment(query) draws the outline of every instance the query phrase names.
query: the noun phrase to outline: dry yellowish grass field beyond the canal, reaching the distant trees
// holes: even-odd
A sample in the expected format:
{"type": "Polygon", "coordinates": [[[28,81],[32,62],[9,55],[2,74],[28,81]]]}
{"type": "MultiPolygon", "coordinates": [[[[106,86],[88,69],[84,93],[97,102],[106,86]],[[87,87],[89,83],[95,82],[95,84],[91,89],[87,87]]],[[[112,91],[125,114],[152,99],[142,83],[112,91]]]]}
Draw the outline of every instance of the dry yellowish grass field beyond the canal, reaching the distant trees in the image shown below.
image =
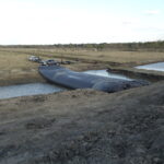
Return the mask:
{"type": "Polygon", "coordinates": [[[12,83],[39,82],[38,63],[27,58],[36,55],[43,59],[74,60],[75,65],[66,66],[73,70],[105,69],[110,67],[131,68],[138,65],[164,61],[164,52],[89,50],[70,48],[0,48],[0,85],[12,83]]]}

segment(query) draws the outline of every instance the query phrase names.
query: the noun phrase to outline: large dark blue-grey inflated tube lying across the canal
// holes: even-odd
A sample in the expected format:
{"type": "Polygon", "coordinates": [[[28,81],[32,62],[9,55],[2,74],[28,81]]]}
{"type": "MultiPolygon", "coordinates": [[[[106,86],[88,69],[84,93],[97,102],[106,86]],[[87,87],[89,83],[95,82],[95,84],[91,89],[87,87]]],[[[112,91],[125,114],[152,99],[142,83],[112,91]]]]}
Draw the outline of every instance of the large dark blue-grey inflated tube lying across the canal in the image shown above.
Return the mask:
{"type": "Polygon", "coordinates": [[[60,66],[40,66],[38,70],[48,81],[70,89],[95,89],[104,92],[116,92],[148,84],[145,81],[127,81],[75,72],[60,66]]]}

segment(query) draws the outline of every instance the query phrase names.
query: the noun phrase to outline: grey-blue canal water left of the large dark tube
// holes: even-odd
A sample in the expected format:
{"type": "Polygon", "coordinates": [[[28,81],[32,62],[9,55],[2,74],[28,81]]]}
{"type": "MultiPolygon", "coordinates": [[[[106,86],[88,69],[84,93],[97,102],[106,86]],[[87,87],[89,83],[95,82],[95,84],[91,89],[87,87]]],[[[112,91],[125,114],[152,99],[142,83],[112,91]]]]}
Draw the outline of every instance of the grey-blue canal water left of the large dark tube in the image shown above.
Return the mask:
{"type": "Polygon", "coordinates": [[[66,89],[48,83],[31,83],[0,86],[0,99],[61,92],[66,89]]]}

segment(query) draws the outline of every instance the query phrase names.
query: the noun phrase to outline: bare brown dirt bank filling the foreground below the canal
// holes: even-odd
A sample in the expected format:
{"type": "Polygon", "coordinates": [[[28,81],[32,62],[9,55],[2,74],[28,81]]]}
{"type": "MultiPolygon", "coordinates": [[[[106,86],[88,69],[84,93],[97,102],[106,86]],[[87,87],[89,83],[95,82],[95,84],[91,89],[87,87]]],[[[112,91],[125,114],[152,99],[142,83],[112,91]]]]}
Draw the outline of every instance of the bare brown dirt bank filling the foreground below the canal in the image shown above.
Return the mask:
{"type": "Polygon", "coordinates": [[[0,101],[0,164],[163,164],[164,82],[0,101]]]}

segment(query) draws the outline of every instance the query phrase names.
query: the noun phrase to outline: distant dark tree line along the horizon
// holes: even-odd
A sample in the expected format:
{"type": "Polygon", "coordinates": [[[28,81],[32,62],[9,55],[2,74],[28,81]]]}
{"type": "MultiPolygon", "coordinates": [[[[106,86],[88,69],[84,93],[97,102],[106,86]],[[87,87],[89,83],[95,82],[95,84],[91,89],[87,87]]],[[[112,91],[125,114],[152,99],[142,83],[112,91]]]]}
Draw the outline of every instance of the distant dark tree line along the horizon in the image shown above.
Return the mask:
{"type": "Polygon", "coordinates": [[[164,40],[147,42],[147,43],[117,43],[117,44],[57,44],[57,45],[10,45],[0,46],[10,48],[83,48],[83,49],[117,49],[117,50],[157,50],[164,51],[164,40]]]}

